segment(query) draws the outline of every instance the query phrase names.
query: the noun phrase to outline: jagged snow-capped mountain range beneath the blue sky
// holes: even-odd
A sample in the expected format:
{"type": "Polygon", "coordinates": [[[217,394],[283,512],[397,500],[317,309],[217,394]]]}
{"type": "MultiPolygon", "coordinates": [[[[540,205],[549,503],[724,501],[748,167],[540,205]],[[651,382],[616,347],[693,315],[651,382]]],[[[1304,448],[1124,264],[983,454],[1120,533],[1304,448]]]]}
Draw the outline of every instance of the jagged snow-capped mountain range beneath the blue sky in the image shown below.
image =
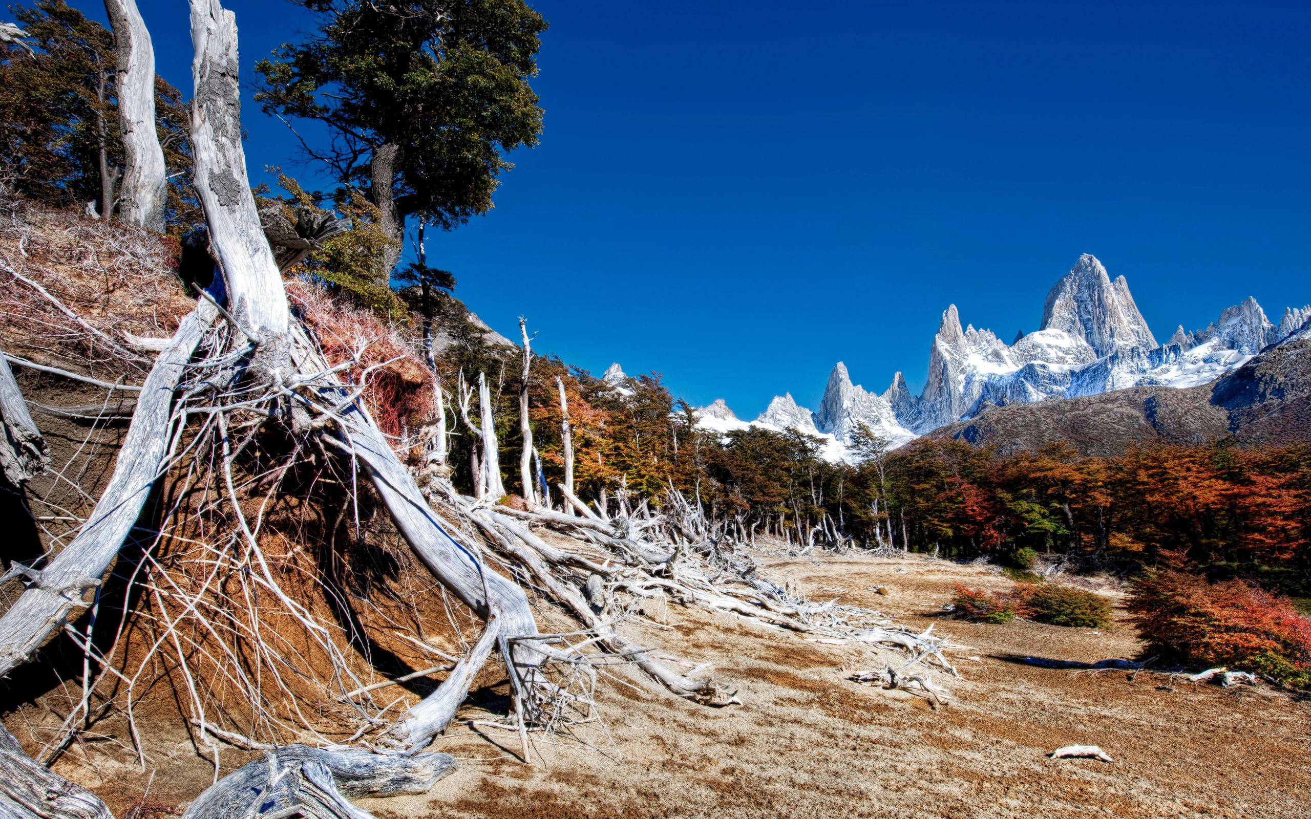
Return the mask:
{"type": "MultiPolygon", "coordinates": [[[[956,305],[949,305],[929,345],[928,380],[919,396],[901,372],[882,394],[867,392],[839,363],[818,411],[797,406],[788,393],[753,423],[818,434],[834,444],[850,444],[851,434],[868,425],[901,446],[990,405],[1205,384],[1298,332],[1311,334],[1311,305],[1285,309],[1276,325],[1256,299],[1247,299],[1206,328],[1189,333],[1179,326],[1158,345],[1125,276],[1112,279],[1086,253],[1047,294],[1041,328],[1017,333],[1009,345],[991,330],[962,328],[956,305]]],[[[705,411],[703,422],[711,417],[705,411]]]]}

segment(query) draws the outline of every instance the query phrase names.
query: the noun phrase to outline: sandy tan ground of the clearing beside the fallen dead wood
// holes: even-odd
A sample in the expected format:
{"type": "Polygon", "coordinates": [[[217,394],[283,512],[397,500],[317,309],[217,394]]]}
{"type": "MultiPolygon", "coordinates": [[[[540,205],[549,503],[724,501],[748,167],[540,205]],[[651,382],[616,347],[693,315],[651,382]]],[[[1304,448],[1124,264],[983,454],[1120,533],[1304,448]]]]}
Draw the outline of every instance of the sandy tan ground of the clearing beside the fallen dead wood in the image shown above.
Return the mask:
{"type": "MultiPolygon", "coordinates": [[[[434,750],[460,768],[423,797],[364,799],[384,819],[417,816],[1278,816],[1311,815],[1311,701],[1261,688],[1226,691],[1124,671],[1074,672],[1016,655],[1095,662],[1138,653],[1133,630],[1105,633],[1016,621],[945,619],[952,584],[1003,587],[981,566],[920,558],[775,558],[812,599],[877,608],[935,626],[962,647],[962,677],[935,674],[937,708],[922,697],[847,679],[871,654],[730,616],[670,607],[671,628],[629,634],[665,654],[713,662],[742,705],[711,709],[671,697],[635,674],[608,681],[602,722],[578,738],[538,742],[519,761],[518,735],[454,726],[434,750]],[[877,595],[885,586],[890,594],[877,595]],[[591,747],[587,747],[590,743],[591,747]],[[1074,743],[1114,763],[1051,760],[1074,743]]],[[[498,685],[475,692],[496,708],[498,685]]],[[[464,715],[477,717],[479,708],[464,715]]],[[[194,797],[212,768],[185,742],[160,757],[152,802],[194,797]]],[[[98,755],[93,755],[98,756],[98,755]]],[[[115,810],[149,774],[68,753],[56,769],[115,810]]]]}

